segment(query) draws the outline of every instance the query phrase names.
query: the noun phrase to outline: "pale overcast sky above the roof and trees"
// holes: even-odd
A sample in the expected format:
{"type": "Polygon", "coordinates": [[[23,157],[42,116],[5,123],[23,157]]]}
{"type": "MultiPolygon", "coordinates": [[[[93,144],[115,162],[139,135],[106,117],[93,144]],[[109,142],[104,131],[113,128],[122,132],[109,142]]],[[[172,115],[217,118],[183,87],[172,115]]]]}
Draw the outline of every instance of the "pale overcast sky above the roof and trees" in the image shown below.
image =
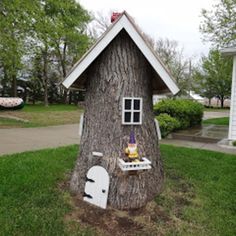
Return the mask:
{"type": "Polygon", "coordinates": [[[184,47],[187,57],[207,54],[209,44],[202,43],[199,32],[201,9],[211,9],[216,0],[79,0],[92,12],[126,10],[154,38],[169,38],[184,47]]]}

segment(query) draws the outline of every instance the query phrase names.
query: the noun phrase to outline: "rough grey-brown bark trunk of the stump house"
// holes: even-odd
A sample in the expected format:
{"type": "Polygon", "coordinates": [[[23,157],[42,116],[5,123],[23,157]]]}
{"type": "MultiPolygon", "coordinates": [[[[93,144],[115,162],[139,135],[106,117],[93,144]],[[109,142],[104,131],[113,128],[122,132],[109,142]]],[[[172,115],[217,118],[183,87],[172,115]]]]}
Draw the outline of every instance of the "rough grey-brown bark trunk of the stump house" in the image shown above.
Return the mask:
{"type": "Polygon", "coordinates": [[[84,129],[71,179],[72,192],[82,196],[86,173],[94,165],[109,173],[111,207],[139,208],[160,192],[163,169],[152,108],[152,71],[124,30],[88,68],[84,129]],[[142,125],[122,125],[123,97],[143,98],[142,125]],[[118,158],[125,155],[131,130],[139,155],[152,162],[152,169],[131,174],[119,168],[118,158]],[[94,157],[93,151],[102,152],[103,157],[94,157]]]}

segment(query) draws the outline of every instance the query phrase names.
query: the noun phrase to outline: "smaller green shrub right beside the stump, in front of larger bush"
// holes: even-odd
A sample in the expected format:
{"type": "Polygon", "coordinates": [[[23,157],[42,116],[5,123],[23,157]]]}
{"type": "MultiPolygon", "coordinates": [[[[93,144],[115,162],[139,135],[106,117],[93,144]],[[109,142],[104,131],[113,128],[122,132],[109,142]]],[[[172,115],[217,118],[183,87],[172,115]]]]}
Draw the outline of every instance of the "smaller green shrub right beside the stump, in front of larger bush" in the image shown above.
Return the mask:
{"type": "Polygon", "coordinates": [[[165,138],[169,133],[180,127],[180,122],[168,114],[160,114],[156,119],[159,123],[162,138],[165,138]]]}

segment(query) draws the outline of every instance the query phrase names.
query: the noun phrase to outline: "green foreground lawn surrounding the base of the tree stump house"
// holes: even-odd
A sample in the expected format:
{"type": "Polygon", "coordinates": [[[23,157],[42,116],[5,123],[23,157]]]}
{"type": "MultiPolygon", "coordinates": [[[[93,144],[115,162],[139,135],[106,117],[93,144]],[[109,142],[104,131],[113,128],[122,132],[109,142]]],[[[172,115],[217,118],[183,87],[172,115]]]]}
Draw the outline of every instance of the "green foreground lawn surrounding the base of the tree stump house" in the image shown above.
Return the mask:
{"type": "MultiPolygon", "coordinates": [[[[105,235],[68,218],[81,210],[65,184],[77,152],[68,146],[0,158],[0,235],[105,235]]],[[[168,145],[161,153],[163,192],[145,215],[150,229],[133,235],[236,235],[236,156],[168,145]]]]}

